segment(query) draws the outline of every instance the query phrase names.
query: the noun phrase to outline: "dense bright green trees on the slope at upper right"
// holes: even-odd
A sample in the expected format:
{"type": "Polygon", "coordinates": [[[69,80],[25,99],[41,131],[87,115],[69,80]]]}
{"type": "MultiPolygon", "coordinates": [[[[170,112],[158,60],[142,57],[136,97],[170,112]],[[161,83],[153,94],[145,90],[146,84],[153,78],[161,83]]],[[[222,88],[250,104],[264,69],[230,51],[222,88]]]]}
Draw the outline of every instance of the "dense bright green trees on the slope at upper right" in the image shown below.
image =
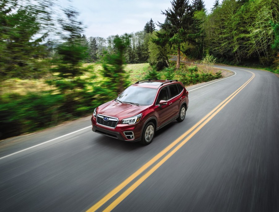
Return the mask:
{"type": "Polygon", "coordinates": [[[221,62],[247,61],[270,66],[276,52],[271,48],[276,35],[270,24],[279,21],[279,2],[273,0],[216,1],[205,20],[207,51],[221,62]]]}

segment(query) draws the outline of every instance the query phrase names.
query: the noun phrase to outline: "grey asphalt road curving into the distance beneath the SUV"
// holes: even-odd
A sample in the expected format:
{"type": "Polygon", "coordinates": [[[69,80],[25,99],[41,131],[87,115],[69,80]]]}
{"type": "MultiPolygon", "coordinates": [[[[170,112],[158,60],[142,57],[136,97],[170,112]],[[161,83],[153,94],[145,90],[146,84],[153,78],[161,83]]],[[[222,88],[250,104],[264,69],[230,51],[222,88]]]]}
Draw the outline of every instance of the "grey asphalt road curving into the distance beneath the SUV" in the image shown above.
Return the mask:
{"type": "Polygon", "coordinates": [[[0,211],[279,211],[279,78],[227,69],[148,146],[90,117],[0,142],[0,211]]]}

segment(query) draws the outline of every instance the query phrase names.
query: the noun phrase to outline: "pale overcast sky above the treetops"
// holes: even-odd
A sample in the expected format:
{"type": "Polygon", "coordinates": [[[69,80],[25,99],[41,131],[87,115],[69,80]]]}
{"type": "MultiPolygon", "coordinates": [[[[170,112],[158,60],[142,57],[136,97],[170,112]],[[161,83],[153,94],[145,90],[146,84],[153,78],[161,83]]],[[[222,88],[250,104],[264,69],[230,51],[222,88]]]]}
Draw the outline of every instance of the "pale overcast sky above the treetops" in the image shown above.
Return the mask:
{"type": "MultiPolygon", "coordinates": [[[[70,4],[80,12],[79,19],[84,24],[87,37],[122,35],[137,32],[152,18],[163,23],[165,11],[171,7],[170,0],[72,0],[70,4]]],[[[191,2],[191,0],[190,0],[191,2]]],[[[204,0],[210,10],[214,0],[204,0]]],[[[158,28],[156,26],[156,28],[158,28]]]]}

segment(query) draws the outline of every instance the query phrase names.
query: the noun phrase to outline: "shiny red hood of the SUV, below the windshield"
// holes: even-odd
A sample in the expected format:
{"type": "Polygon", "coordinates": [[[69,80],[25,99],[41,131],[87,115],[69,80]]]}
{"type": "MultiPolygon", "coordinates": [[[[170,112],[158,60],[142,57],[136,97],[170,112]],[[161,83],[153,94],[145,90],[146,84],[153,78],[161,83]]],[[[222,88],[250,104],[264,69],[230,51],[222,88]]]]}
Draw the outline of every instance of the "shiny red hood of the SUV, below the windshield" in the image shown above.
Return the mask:
{"type": "Polygon", "coordinates": [[[100,113],[105,116],[112,116],[118,118],[119,120],[122,120],[124,118],[129,118],[138,115],[139,113],[146,111],[148,108],[148,105],[137,106],[133,104],[120,103],[118,101],[112,100],[110,102],[100,105],[97,108],[97,114],[100,113]]]}

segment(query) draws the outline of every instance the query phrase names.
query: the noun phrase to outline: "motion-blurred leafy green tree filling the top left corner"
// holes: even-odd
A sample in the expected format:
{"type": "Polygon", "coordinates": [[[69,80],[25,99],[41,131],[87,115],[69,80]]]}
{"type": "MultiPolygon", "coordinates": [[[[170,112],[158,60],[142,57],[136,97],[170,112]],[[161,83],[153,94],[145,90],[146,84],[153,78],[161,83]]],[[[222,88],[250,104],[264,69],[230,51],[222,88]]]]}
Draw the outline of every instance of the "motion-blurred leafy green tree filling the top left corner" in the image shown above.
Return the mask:
{"type": "Polygon", "coordinates": [[[47,36],[42,20],[48,19],[46,5],[24,5],[17,0],[0,2],[0,78],[39,77],[45,64],[47,36]]]}

